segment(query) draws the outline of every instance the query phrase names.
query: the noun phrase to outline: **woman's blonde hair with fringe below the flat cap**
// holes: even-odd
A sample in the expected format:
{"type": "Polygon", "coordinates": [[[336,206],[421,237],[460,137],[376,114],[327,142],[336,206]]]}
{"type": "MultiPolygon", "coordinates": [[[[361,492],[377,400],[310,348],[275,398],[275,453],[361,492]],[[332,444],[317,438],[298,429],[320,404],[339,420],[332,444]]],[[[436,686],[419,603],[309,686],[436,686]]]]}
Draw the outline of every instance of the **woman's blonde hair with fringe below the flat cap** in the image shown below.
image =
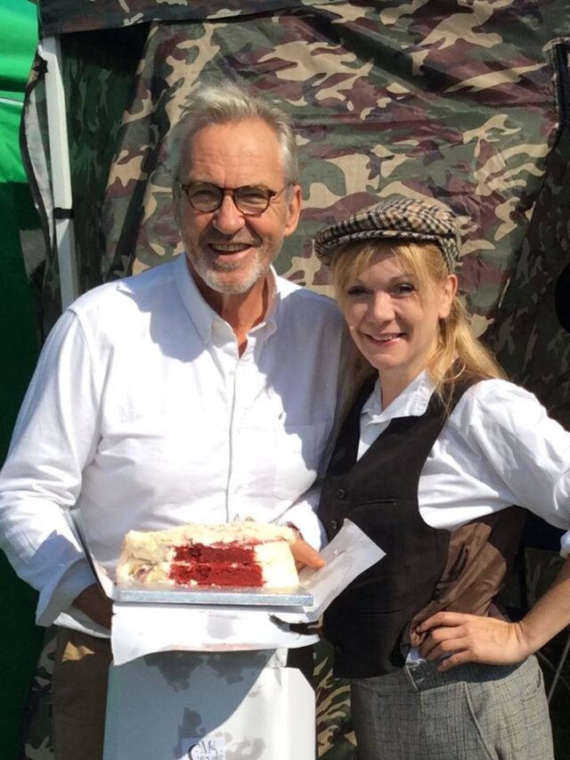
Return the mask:
{"type": "MultiPolygon", "coordinates": [[[[420,299],[428,288],[445,282],[449,275],[442,252],[434,243],[370,240],[346,243],[330,260],[332,282],[341,308],[346,302],[349,283],[371,266],[379,254],[395,254],[400,259],[404,270],[414,275],[420,299]]],[[[368,375],[376,372],[355,346],[349,366],[354,392],[368,375]]],[[[467,312],[457,296],[453,298],[450,314],[439,320],[437,347],[426,369],[445,405],[451,401],[454,384],[458,381],[470,384],[505,377],[489,349],[473,335],[467,312]]]]}

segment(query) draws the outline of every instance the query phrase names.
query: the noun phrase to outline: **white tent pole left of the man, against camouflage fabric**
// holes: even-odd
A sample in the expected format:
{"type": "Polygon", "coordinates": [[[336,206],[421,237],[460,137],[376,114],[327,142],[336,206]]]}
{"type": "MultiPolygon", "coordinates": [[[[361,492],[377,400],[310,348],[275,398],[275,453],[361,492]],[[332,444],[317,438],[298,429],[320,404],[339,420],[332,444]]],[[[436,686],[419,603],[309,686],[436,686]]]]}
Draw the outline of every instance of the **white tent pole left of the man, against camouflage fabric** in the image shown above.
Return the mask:
{"type": "Polygon", "coordinates": [[[69,172],[68,126],[65,117],[65,93],[61,77],[61,45],[59,37],[45,37],[39,54],[47,64],[45,103],[53,189],[53,224],[55,246],[60,266],[61,308],[77,298],[77,263],[73,228],[73,201],[69,172]]]}

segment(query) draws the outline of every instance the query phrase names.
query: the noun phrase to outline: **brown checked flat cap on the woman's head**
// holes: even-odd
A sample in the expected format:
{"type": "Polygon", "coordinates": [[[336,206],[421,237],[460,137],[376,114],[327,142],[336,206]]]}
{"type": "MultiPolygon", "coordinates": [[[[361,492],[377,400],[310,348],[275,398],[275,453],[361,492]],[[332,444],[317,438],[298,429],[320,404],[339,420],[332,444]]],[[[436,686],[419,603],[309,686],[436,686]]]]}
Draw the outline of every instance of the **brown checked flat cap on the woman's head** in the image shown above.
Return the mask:
{"type": "Polygon", "coordinates": [[[314,252],[325,263],[347,242],[364,240],[433,242],[450,272],[460,254],[460,233],[452,212],[424,200],[392,196],[380,200],[314,237],[314,252]]]}

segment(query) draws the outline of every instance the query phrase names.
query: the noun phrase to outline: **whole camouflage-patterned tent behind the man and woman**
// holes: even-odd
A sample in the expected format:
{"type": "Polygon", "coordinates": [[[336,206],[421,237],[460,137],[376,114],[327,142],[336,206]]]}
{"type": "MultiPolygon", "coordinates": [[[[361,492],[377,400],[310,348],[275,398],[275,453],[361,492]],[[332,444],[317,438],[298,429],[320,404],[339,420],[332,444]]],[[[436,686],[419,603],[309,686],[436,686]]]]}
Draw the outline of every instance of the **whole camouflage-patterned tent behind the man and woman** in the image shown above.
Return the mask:
{"type": "MultiPolygon", "coordinates": [[[[167,135],[192,87],[240,77],[297,127],[304,215],[281,274],[326,290],[316,229],[392,192],[444,200],[476,331],[570,425],[569,0],[42,0],[40,17],[61,36],[80,290],[180,253],[167,135]]],[[[27,135],[48,327],[60,304],[44,69],[38,58],[27,135]]],[[[337,698],[320,702],[321,751],[348,757],[337,698]]]]}

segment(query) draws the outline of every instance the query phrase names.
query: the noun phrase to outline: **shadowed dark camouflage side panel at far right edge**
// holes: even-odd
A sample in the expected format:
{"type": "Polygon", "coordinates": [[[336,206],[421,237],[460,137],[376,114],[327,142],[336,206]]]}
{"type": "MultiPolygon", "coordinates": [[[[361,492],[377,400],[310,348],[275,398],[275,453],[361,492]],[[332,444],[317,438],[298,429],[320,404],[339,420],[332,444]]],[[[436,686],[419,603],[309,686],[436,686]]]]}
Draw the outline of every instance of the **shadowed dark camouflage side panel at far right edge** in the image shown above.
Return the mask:
{"type": "Polygon", "coordinates": [[[517,264],[488,335],[509,376],[532,390],[567,429],[570,342],[558,323],[555,291],[570,265],[569,53],[570,45],[564,43],[550,51],[556,67],[558,133],[517,264]]]}

